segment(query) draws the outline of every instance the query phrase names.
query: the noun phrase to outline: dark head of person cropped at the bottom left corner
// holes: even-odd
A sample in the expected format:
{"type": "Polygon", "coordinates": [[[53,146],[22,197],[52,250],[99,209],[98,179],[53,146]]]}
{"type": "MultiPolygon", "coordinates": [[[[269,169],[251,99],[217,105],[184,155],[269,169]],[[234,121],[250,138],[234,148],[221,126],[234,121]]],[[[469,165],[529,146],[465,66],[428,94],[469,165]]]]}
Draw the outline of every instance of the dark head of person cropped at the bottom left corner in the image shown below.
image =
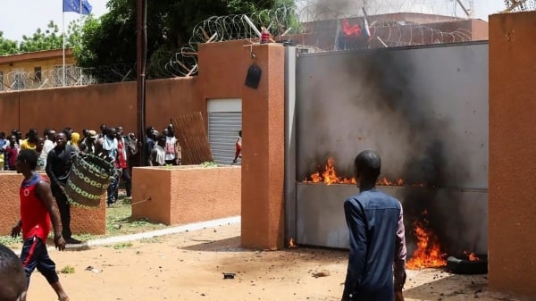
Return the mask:
{"type": "Polygon", "coordinates": [[[26,300],[26,273],[21,259],[4,245],[0,245],[0,300],[26,300]]]}

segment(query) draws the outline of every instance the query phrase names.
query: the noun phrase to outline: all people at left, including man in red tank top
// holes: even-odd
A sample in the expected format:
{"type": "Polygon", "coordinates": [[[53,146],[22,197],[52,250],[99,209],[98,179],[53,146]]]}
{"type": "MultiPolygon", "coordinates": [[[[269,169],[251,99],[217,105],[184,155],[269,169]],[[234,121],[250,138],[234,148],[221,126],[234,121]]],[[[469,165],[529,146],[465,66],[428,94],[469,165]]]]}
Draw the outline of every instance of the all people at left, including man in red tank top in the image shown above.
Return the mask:
{"type": "MultiPolygon", "coordinates": [[[[0,280],[0,299],[24,300],[30,276],[37,268],[54,288],[58,299],[69,300],[55,271],[55,263],[47,253],[46,238],[52,222],[54,245],[59,250],[64,250],[67,244],[81,243],[71,236],[71,209],[65,194],[72,158],[81,153],[97,155],[113,163],[116,177],[106,194],[106,204],[113,206],[118,198],[120,180],[127,197],[131,196],[133,166],[139,163],[147,166],[181,164],[181,147],[172,124],[162,132],[149,127],[146,134],[147,139],[142,143],[134,133],[124,135],[121,126],[107,127],[105,124],[101,124],[100,133],[82,130],[82,135],[71,128],[59,132],[46,129],[42,136],[36,129],[30,129],[24,137],[20,130],[12,130],[7,137],[0,132],[0,170],[17,171],[24,176],[20,188],[21,218],[12,229],[13,237],[22,234],[21,258],[0,245],[0,268],[6,267],[0,272],[9,272],[13,279],[10,283],[0,280]],[[145,152],[144,162],[140,160],[140,150],[145,152]],[[38,171],[45,171],[48,180],[38,171]]],[[[233,163],[241,158],[241,130],[235,144],[233,163]]]]}

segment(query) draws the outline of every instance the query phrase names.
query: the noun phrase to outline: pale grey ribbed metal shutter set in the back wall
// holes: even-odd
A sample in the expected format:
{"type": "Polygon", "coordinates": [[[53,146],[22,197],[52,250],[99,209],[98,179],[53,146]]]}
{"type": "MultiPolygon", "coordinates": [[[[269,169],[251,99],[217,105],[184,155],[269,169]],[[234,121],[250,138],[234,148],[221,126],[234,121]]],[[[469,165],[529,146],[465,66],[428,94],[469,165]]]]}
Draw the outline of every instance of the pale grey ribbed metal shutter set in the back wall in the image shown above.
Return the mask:
{"type": "Polygon", "coordinates": [[[218,164],[230,164],[235,155],[235,143],[242,129],[240,99],[208,101],[208,141],[218,164]]]}

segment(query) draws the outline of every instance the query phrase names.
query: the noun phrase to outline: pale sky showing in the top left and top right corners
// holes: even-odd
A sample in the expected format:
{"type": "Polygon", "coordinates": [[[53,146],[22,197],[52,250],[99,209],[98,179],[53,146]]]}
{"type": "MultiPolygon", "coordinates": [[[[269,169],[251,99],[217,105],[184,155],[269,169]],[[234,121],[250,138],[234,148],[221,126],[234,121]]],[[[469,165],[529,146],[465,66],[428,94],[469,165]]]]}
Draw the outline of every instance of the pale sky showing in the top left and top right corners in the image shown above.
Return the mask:
{"type": "MultiPolygon", "coordinates": [[[[462,1],[468,3],[468,0],[462,1]]],[[[88,0],[88,2],[93,6],[92,13],[96,17],[107,12],[107,0],[88,0]]],[[[473,2],[473,18],[484,21],[488,21],[489,14],[505,8],[503,0],[473,0],[473,2]]],[[[62,31],[62,4],[61,0],[0,0],[0,31],[4,32],[4,38],[20,41],[23,35],[31,36],[38,28],[46,29],[46,24],[51,20],[58,24],[62,31]]],[[[70,21],[78,19],[78,13],[64,13],[65,29],[70,21]]]]}

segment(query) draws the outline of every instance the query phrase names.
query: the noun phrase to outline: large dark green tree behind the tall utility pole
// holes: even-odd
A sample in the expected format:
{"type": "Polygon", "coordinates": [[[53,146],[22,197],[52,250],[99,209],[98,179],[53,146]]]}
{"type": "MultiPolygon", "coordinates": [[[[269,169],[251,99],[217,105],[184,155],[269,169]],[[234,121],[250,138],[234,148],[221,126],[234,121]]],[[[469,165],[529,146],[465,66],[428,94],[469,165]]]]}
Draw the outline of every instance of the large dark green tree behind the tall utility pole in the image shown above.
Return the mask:
{"type": "MultiPolygon", "coordinates": [[[[136,0],[109,0],[109,12],[89,19],[74,55],[81,67],[136,63],[136,0]]],[[[188,43],[200,21],[215,16],[252,13],[293,0],[158,0],[147,1],[147,72],[162,77],[155,63],[188,43]]]]}

